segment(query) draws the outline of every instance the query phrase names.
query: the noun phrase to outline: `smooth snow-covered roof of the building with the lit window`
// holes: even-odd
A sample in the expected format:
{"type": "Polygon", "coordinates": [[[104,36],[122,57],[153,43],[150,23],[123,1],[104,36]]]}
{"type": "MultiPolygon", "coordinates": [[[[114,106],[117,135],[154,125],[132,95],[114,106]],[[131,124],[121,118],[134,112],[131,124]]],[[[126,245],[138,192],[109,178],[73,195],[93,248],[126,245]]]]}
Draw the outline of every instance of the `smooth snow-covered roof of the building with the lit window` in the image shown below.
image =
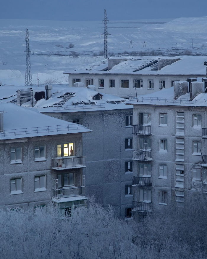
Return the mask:
{"type": "Polygon", "coordinates": [[[83,125],[56,119],[13,103],[1,103],[0,112],[3,113],[0,140],[92,131],[83,125]]]}

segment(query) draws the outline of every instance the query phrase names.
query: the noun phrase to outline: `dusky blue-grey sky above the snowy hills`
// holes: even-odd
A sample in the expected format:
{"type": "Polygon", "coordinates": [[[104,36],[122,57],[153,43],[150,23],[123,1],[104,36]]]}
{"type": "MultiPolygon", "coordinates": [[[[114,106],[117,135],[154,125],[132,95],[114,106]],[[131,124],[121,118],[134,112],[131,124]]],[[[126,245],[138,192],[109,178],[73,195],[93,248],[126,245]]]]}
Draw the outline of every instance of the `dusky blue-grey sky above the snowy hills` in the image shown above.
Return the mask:
{"type": "Polygon", "coordinates": [[[0,19],[64,21],[207,16],[206,0],[2,0],[0,19]]]}

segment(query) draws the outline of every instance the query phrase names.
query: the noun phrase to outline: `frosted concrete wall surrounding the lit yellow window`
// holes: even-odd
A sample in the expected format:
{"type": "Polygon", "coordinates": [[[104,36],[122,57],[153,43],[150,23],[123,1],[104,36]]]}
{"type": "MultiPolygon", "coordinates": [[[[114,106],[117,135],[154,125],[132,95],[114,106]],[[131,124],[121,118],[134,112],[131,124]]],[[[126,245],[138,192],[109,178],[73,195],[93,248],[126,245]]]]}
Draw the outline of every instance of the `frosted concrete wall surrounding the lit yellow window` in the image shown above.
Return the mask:
{"type": "MultiPolygon", "coordinates": [[[[0,207],[34,207],[46,204],[52,198],[57,172],[52,169],[52,159],[57,157],[57,145],[75,143],[75,154],[82,155],[82,134],[65,134],[45,137],[0,141],[0,207]],[[35,161],[35,147],[46,146],[46,159],[35,161]],[[10,149],[22,148],[22,162],[10,163],[10,149]],[[35,176],[46,176],[46,190],[35,192],[35,176]],[[22,178],[22,193],[10,193],[10,180],[22,178]]],[[[75,172],[75,186],[80,186],[82,169],[63,170],[75,172]]],[[[63,172],[62,171],[62,172],[63,172]]]]}

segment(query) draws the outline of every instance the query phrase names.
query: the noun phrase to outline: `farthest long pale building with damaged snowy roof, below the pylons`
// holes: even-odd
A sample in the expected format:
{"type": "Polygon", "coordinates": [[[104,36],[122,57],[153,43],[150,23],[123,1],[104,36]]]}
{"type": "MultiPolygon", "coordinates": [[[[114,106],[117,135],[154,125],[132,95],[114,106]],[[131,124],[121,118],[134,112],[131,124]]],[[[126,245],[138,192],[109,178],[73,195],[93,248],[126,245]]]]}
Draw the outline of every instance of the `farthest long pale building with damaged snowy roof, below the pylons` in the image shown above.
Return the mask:
{"type": "Polygon", "coordinates": [[[206,76],[205,56],[111,57],[70,71],[69,87],[94,85],[97,91],[127,98],[173,86],[174,81],[206,76]]]}

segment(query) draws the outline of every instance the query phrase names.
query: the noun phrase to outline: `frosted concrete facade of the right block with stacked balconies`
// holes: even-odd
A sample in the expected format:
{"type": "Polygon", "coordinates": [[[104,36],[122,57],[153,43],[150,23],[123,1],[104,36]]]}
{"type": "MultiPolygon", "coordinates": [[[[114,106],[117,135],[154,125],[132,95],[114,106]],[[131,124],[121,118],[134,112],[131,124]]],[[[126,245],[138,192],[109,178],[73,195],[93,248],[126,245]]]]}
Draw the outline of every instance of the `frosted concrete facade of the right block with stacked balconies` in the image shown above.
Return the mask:
{"type": "MultiPolygon", "coordinates": [[[[139,175],[139,163],[151,164],[151,201],[153,211],[163,212],[169,206],[176,204],[176,191],[184,192],[185,201],[189,196],[196,195],[195,191],[202,191],[203,169],[201,167],[202,158],[200,150],[194,152],[194,143],[201,143],[201,152],[207,154],[207,140],[202,138],[202,128],[207,127],[207,108],[205,107],[185,107],[185,106],[156,106],[156,105],[135,105],[133,111],[134,124],[139,124],[139,113],[151,114],[151,132],[149,136],[133,136],[134,149],[138,150],[139,138],[151,139],[152,161],[134,161],[134,176],[139,175]],[[177,112],[184,112],[184,134],[176,132],[176,115],[177,112]],[[167,114],[167,124],[160,124],[160,113],[167,114]],[[195,115],[200,116],[201,124],[195,125],[195,115]],[[184,139],[184,156],[183,160],[177,159],[176,156],[176,139],[184,139]],[[160,140],[167,140],[167,150],[161,150],[160,140]],[[184,166],[184,184],[183,188],[177,188],[175,166],[181,164],[184,166]],[[166,179],[159,175],[159,165],[167,166],[166,179]],[[193,180],[193,168],[201,170],[201,179],[193,180]],[[167,192],[167,205],[159,204],[159,191],[167,192]]],[[[198,123],[199,124],[199,123],[198,123]]],[[[179,146],[180,148],[180,146],[179,146]]],[[[182,150],[182,147],[180,148],[182,150]]],[[[179,150],[178,150],[179,152],[179,150]]],[[[139,200],[139,188],[133,186],[134,200],[139,200]]],[[[137,217],[137,212],[134,212],[137,217]]]]}

